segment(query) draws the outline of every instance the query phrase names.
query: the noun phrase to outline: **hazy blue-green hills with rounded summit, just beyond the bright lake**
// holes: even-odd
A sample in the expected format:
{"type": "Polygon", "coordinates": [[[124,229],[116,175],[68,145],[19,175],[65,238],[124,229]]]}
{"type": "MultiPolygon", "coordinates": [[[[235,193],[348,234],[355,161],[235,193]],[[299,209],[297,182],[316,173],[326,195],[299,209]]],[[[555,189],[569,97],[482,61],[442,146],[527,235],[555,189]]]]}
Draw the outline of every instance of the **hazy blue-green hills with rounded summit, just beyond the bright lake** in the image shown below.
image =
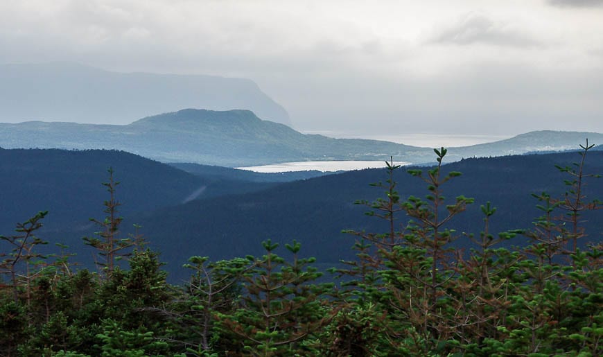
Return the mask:
{"type": "MultiPolygon", "coordinates": [[[[450,160],[577,148],[593,132],[539,131],[512,139],[451,148],[450,160]]],[[[280,123],[259,119],[248,110],[180,110],[148,116],[129,125],[78,123],[0,123],[3,148],[105,148],[125,150],[161,162],[218,166],[254,166],[312,160],[385,160],[426,164],[431,148],[388,141],[333,139],[302,134],[280,123]]]]}

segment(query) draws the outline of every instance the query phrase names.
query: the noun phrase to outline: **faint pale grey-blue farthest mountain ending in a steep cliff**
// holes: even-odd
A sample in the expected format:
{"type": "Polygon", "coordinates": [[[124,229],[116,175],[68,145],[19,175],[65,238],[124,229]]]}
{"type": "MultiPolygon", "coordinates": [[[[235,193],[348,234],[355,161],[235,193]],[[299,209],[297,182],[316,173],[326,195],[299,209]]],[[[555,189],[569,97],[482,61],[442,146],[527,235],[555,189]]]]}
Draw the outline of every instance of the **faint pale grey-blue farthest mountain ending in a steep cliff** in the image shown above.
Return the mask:
{"type": "Polygon", "coordinates": [[[0,121],[130,123],[180,108],[247,109],[290,125],[252,80],[118,73],[69,62],[0,65],[0,121]]]}

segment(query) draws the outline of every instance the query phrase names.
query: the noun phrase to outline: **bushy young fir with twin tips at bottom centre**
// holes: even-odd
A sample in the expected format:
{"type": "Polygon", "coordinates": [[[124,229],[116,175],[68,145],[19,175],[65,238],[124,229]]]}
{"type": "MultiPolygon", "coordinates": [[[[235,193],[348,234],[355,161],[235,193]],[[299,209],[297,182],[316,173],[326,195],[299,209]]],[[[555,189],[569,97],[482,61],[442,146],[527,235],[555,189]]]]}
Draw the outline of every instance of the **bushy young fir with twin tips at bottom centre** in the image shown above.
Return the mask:
{"type": "Polygon", "coordinates": [[[332,284],[313,284],[322,274],[310,265],[315,259],[299,258],[298,242],[286,245],[291,262],[274,254],[278,244],[262,245],[266,254],[244,275],[241,306],[231,315],[218,314],[220,326],[239,336],[247,354],[311,354],[306,341],[336,313],[326,306],[332,284]]]}

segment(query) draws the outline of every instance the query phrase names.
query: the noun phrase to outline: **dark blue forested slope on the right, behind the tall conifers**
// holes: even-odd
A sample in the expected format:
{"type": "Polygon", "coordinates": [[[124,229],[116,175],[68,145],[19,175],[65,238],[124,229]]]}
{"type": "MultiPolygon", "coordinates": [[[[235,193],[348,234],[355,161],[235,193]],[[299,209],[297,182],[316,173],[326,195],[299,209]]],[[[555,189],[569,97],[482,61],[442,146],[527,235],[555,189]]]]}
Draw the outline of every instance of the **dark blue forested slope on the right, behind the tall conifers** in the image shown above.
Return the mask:
{"type": "MultiPolygon", "coordinates": [[[[469,249],[472,245],[462,232],[479,236],[484,229],[480,205],[486,202],[498,208],[490,223],[494,234],[532,227],[541,211],[536,209],[539,202],[531,193],[545,191],[553,196],[562,195],[566,190],[563,180],[568,176],[554,165],[571,166],[576,161],[579,156],[573,152],[464,159],[445,165],[444,173],[463,173],[442,187],[448,202],[458,195],[475,198],[475,204],[448,226],[457,229],[459,239],[455,247],[469,249]]],[[[401,197],[427,195],[425,184],[405,171],[405,168],[396,171],[394,177],[401,197]]],[[[602,152],[588,154],[585,172],[603,173],[602,152]]],[[[261,254],[260,242],[271,238],[281,243],[296,239],[302,242],[304,254],[334,265],[353,254],[350,247],[354,237],[342,234],[342,229],[387,232],[385,221],[366,216],[368,207],[353,204],[356,200],[383,197],[384,189],[369,183],[386,179],[384,169],[349,171],[284,183],[266,191],[193,200],[137,216],[134,220],[143,225],[149,240],[166,261],[184,261],[191,252],[211,259],[261,254]],[[185,253],[173,249],[173,241],[164,240],[166,236],[173,236],[174,227],[179,232],[178,245],[187,247],[185,253]]],[[[603,179],[585,180],[584,194],[590,200],[603,198],[603,184],[597,180],[603,179]]],[[[585,225],[591,234],[587,241],[602,241],[601,213],[593,211],[582,215],[588,220],[585,225]]],[[[406,221],[401,214],[399,224],[406,221]]],[[[518,236],[509,245],[525,243],[526,238],[518,236]]]]}

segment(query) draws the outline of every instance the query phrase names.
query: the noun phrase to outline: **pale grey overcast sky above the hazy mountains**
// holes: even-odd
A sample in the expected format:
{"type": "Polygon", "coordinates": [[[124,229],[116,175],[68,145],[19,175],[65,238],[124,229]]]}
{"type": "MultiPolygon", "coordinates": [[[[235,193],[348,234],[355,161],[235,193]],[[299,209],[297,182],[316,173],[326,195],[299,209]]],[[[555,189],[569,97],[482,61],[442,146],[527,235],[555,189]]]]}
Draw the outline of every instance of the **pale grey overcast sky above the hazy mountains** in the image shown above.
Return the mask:
{"type": "Polygon", "coordinates": [[[64,60],[250,78],[335,136],[603,132],[603,0],[0,1],[0,62],[64,60]]]}

